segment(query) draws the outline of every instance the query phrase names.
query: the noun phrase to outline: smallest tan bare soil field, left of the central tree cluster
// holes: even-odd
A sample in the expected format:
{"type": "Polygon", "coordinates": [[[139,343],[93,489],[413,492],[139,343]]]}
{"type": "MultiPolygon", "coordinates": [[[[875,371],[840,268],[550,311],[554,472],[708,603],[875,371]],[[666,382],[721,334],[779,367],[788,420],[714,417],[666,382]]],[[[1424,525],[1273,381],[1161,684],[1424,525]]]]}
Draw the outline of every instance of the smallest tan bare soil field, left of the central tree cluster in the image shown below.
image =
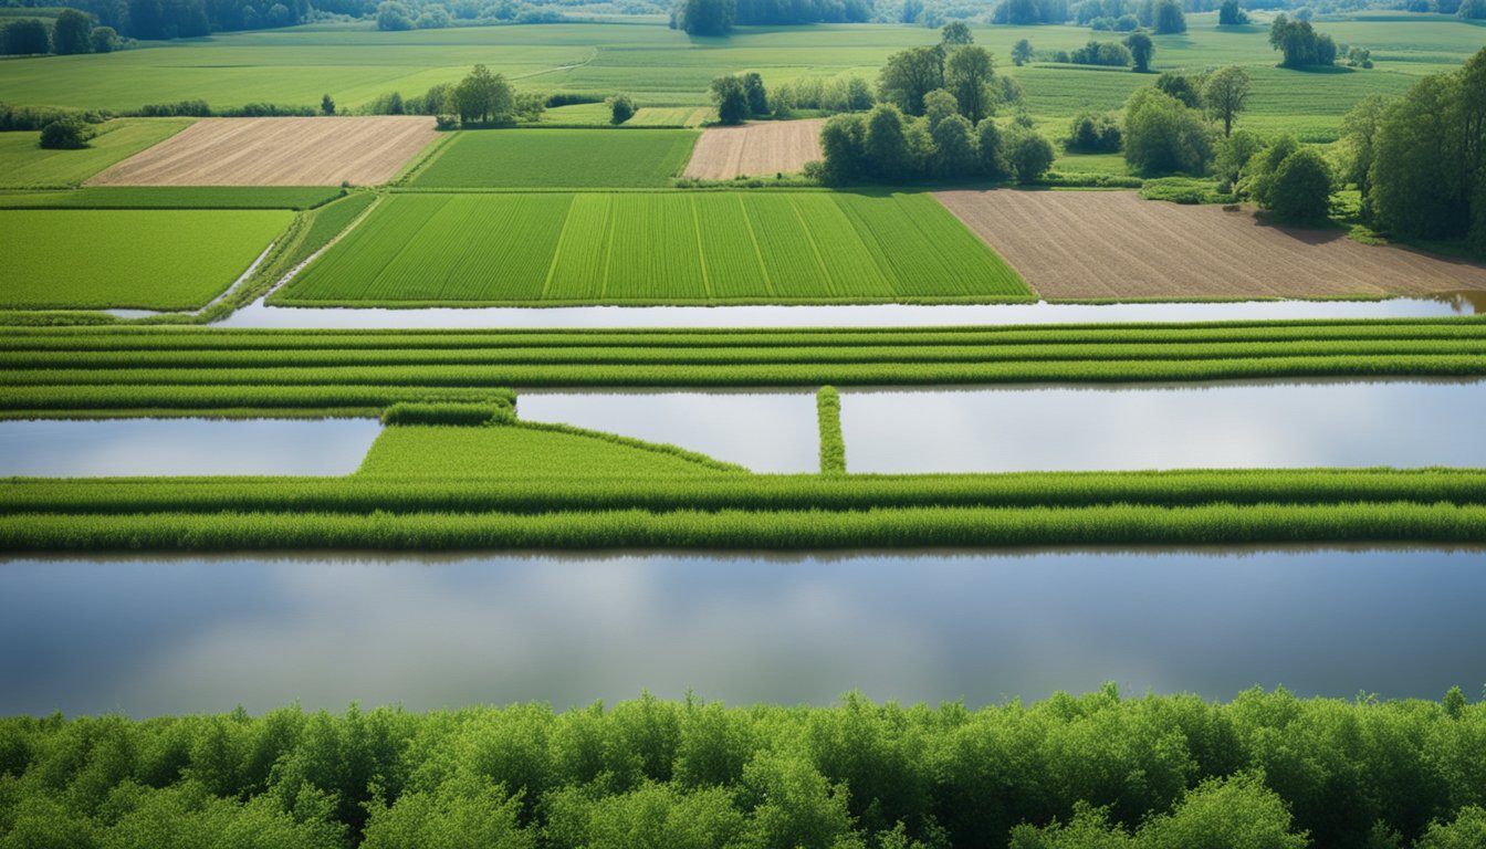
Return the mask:
{"type": "Polygon", "coordinates": [[[822,119],[710,126],[697,140],[682,177],[731,180],[799,171],[820,159],[822,119]]]}

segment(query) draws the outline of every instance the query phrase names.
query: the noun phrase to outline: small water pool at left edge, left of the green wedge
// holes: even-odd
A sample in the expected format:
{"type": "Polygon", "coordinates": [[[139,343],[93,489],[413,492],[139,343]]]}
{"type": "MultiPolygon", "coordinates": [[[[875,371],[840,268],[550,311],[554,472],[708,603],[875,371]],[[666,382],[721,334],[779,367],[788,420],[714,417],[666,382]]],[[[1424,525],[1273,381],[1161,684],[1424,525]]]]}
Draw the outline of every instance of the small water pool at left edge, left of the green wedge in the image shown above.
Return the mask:
{"type": "Polygon", "coordinates": [[[0,477],[349,474],[374,419],[0,421],[0,477]]]}

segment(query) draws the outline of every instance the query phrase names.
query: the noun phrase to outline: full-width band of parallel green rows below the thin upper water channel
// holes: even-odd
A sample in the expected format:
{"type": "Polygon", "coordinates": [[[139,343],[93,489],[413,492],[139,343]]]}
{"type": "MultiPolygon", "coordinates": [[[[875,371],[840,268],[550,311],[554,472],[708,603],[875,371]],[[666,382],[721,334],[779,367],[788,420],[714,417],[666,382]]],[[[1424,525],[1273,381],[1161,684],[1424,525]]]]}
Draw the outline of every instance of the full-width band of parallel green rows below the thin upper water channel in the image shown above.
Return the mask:
{"type": "Polygon", "coordinates": [[[1479,318],[761,332],[10,327],[0,336],[0,416],[380,415],[397,401],[483,403],[489,387],[1483,375],[1479,318]]]}

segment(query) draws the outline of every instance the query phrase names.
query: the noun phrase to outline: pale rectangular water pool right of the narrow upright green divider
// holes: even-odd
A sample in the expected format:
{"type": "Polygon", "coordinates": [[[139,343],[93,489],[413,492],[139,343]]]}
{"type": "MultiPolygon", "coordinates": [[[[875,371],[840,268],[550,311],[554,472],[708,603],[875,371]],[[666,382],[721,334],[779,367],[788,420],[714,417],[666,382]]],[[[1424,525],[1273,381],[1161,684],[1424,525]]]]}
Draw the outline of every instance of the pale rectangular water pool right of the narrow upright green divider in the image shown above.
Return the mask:
{"type": "Polygon", "coordinates": [[[841,390],[851,471],[1486,467],[1486,382],[841,390]]]}

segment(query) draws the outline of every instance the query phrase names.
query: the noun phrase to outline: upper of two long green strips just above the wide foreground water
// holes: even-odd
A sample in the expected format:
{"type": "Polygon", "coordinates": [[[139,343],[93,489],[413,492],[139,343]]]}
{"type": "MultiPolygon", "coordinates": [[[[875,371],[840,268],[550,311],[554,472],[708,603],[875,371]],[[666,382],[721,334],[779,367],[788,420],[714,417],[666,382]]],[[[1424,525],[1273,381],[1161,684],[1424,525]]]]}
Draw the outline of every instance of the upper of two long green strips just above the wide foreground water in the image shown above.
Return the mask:
{"type": "MultiPolygon", "coordinates": [[[[531,422],[525,422],[531,425],[531,422]]],[[[538,425],[548,427],[548,425],[538,425]]],[[[591,433],[581,428],[553,428],[591,433]]],[[[620,445],[633,445],[635,440],[620,445]]],[[[640,443],[654,449],[652,443],[640,443]]],[[[691,452],[685,452],[691,455],[691,452]]],[[[710,458],[718,470],[737,470],[710,458]]],[[[559,513],[574,510],[820,510],[1092,507],[1143,504],[1486,506],[1486,470],[1302,468],[1006,474],[749,474],[566,477],[355,474],[349,477],[3,479],[0,513],[559,513]]]]}

